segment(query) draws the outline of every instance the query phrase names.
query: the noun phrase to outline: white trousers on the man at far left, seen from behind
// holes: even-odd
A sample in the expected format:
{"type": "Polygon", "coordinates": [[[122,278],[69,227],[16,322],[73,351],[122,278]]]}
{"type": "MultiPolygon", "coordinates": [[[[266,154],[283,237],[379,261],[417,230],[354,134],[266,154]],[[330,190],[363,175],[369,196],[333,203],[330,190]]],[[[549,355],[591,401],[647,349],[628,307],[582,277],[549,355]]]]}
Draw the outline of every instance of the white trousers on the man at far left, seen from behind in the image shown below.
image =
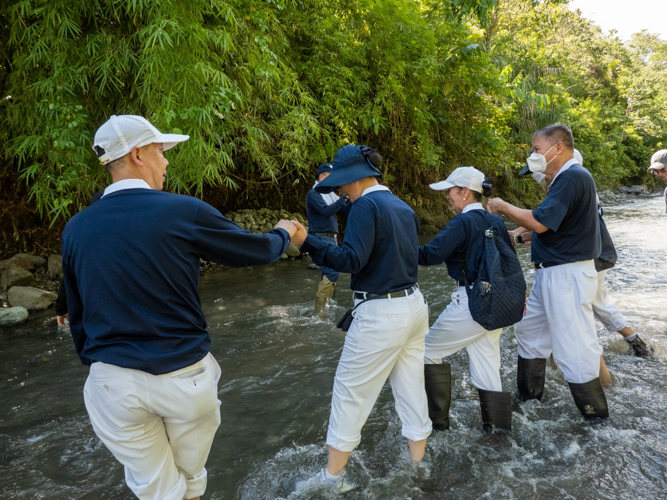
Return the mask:
{"type": "Polygon", "coordinates": [[[204,493],[204,465],[220,425],[219,379],[210,353],[157,376],[92,364],[83,390],[90,421],[138,498],[183,500],[204,493]]]}

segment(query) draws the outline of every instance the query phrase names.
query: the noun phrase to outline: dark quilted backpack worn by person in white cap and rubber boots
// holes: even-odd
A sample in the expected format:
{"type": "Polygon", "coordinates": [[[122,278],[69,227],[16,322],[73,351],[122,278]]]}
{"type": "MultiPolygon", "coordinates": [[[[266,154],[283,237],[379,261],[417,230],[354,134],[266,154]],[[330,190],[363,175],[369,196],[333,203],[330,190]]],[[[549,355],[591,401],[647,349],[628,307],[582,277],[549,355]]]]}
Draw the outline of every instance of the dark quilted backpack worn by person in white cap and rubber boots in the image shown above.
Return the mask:
{"type": "Polygon", "coordinates": [[[472,319],[491,331],[521,321],[526,304],[526,280],[514,250],[500,238],[498,228],[487,228],[486,218],[482,213],[479,215],[484,224],[478,223],[484,232],[484,254],[472,288],[468,284],[465,260],[461,271],[472,319]]]}

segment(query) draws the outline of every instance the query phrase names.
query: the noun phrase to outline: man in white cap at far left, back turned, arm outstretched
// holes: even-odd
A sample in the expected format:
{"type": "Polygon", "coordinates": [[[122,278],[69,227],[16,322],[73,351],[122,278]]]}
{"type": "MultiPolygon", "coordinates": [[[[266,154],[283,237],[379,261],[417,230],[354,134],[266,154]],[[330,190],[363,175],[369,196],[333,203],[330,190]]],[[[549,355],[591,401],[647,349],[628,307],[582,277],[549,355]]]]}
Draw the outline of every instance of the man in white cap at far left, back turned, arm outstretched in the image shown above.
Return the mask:
{"type": "Polygon", "coordinates": [[[199,498],[206,488],[220,367],[197,293],[200,259],[266,264],[290,240],[302,243],[289,221],[251,234],[197,198],[162,192],[163,151],[187,139],[112,116],[93,149],[113,183],[63,233],[72,339],[90,366],[86,409],[146,500],[199,498]]]}

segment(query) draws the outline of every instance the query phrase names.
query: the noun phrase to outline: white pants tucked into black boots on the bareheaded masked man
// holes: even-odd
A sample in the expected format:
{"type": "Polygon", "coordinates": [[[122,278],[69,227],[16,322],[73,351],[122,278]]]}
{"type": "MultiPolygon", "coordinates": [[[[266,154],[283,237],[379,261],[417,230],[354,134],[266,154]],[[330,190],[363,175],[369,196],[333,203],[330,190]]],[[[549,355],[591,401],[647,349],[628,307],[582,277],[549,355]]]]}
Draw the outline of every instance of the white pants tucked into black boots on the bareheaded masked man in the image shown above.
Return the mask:
{"type": "Polygon", "coordinates": [[[514,327],[522,358],[548,358],[573,384],[600,376],[593,301],[598,276],[592,260],[535,270],[526,315],[514,327]]]}

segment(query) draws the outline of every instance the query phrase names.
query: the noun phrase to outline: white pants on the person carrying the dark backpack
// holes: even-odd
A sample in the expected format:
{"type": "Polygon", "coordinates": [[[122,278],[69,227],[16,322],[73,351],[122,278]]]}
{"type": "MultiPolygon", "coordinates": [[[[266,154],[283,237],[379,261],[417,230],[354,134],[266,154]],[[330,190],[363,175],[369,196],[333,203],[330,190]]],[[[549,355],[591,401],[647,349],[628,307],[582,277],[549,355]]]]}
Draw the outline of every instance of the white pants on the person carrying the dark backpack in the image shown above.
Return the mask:
{"type": "Polygon", "coordinates": [[[502,328],[488,331],[472,319],[465,287],[452,293],[452,301],[442,311],[426,336],[424,363],[441,364],[442,359],[468,351],[470,378],[478,389],[503,390],[500,381],[500,334],[502,328]]]}

